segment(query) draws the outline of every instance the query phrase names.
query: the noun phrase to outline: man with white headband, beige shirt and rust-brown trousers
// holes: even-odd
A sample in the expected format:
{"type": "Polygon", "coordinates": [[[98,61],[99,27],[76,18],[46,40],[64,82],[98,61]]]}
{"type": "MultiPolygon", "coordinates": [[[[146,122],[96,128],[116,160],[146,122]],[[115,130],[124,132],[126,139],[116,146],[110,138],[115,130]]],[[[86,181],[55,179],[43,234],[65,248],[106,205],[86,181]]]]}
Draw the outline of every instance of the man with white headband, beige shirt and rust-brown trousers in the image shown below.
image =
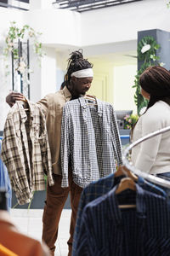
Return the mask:
{"type": "MultiPolygon", "coordinates": [[[[61,119],[62,110],[65,102],[84,96],[89,90],[93,81],[93,65],[83,58],[82,51],[79,49],[71,53],[68,60],[67,73],[65,76],[65,87],[56,93],[45,96],[37,104],[42,108],[47,121],[48,142],[52,156],[52,165],[54,173],[54,186],[47,187],[47,200],[42,216],[42,240],[45,241],[54,255],[55,241],[58,236],[59,218],[65,206],[65,201],[70,192],[71,196],[71,226],[70,238],[68,241],[69,253],[73,241],[73,233],[76,224],[77,207],[82,193],[76,183],[73,182],[71,175],[71,165],[69,166],[69,187],[61,187],[61,165],[60,165],[60,137],[61,137],[61,119]]],[[[23,100],[24,96],[20,93],[12,92],[6,102],[10,107],[15,101],[23,100]]]]}

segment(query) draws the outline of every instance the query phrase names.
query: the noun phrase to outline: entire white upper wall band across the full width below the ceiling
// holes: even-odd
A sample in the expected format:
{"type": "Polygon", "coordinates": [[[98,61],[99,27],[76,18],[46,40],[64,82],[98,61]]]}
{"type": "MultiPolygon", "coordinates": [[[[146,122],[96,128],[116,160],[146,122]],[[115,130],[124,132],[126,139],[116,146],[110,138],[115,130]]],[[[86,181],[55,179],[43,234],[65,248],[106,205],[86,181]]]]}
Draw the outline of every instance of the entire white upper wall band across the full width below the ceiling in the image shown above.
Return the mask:
{"type": "Polygon", "coordinates": [[[167,0],[143,0],[82,14],[65,9],[19,11],[0,8],[0,34],[9,20],[29,24],[42,32],[42,43],[65,49],[112,44],[137,39],[137,32],[147,29],[170,31],[167,0]]]}

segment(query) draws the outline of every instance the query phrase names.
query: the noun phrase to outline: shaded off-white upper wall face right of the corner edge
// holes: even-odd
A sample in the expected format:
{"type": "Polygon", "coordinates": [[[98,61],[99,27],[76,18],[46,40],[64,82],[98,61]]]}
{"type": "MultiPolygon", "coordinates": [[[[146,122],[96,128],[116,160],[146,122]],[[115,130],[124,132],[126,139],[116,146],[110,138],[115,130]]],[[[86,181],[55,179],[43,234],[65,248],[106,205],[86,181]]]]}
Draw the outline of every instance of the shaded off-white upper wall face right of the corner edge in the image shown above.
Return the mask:
{"type": "Polygon", "coordinates": [[[143,0],[82,13],[82,45],[108,44],[137,38],[148,29],[170,31],[167,0],[143,0]]]}

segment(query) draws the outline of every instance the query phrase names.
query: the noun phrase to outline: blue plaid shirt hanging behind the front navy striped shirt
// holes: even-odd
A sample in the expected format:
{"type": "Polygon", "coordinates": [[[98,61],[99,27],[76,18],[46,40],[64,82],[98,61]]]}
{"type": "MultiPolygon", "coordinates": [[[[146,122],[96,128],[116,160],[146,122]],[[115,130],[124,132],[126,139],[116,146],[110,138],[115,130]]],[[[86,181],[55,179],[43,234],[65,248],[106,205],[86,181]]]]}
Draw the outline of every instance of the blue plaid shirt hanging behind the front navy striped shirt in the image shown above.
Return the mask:
{"type": "MultiPolygon", "coordinates": [[[[108,193],[116,183],[119,183],[122,177],[114,178],[114,174],[107,177],[100,178],[98,181],[90,183],[85,189],[82,190],[82,196],[79,202],[78,212],[77,212],[77,224],[74,232],[72,256],[77,255],[77,237],[80,232],[80,225],[82,223],[82,211],[83,208],[91,201],[94,201],[101,195],[108,193]]],[[[166,197],[166,193],[163,189],[160,189],[155,184],[149,183],[144,180],[143,177],[138,179],[139,185],[150,192],[156,193],[157,195],[162,195],[166,197]]]]}

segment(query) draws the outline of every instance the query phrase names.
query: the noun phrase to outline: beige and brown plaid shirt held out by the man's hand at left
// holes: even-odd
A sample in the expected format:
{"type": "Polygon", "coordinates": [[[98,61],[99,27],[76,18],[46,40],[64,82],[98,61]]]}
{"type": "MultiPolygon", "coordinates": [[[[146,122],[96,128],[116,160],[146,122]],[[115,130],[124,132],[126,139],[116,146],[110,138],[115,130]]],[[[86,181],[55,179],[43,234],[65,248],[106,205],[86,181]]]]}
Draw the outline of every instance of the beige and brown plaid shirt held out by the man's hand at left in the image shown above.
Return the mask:
{"type": "Polygon", "coordinates": [[[44,174],[48,183],[54,184],[45,117],[36,104],[28,105],[28,112],[23,102],[16,102],[9,110],[1,153],[20,204],[30,202],[33,191],[45,189],[44,174]]]}

